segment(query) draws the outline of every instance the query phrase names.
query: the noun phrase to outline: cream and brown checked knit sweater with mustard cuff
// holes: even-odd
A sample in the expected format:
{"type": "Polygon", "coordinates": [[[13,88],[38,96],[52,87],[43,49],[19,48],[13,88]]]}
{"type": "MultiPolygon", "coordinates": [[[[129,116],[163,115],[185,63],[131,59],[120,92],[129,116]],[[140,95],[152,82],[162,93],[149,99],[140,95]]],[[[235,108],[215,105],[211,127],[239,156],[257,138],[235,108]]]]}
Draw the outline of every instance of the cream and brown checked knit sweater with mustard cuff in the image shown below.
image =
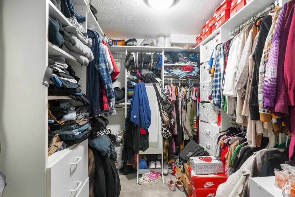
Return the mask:
{"type": "Polygon", "coordinates": [[[263,122],[271,122],[271,113],[269,113],[268,109],[264,108],[264,97],[263,97],[263,84],[266,72],[266,64],[268,61],[269,51],[271,49],[271,43],[273,40],[273,35],[276,30],[276,26],[278,24],[278,20],[280,19],[283,7],[279,7],[272,18],[271,29],[268,32],[268,37],[266,38],[266,43],[263,49],[263,55],[260,62],[259,67],[259,83],[258,83],[258,107],[260,113],[260,120],[263,122]]]}

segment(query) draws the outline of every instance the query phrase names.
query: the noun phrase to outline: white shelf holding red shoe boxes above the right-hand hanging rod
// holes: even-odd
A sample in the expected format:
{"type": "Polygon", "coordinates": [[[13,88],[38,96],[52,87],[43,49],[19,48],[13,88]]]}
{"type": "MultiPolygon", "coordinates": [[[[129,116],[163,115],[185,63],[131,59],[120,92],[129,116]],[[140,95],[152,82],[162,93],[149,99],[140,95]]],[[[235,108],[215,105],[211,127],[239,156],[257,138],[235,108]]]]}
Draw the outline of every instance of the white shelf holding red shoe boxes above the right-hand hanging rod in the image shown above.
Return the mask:
{"type": "Polygon", "coordinates": [[[222,27],[235,30],[237,27],[239,27],[241,24],[248,21],[251,17],[258,14],[258,12],[263,11],[266,9],[267,6],[270,6],[274,1],[273,0],[251,0],[248,4],[246,4],[242,9],[240,9],[234,16],[232,16],[230,19],[227,20],[223,25],[221,25],[214,33],[212,33],[210,36],[208,36],[205,40],[203,40],[200,45],[207,44],[216,33],[220,32],[220,28],[222,27]]]}

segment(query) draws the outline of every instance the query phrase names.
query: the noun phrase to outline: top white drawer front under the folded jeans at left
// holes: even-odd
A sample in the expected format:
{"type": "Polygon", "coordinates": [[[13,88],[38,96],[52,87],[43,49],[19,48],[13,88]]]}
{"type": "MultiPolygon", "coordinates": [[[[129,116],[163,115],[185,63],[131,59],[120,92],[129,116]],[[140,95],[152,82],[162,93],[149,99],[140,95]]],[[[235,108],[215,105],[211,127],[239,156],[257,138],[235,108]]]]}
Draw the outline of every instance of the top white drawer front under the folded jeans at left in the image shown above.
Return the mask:
{"type": "Polygon", "coordinates": [[[47,196],[56,196],[86,160],[88,161],[88,140],[50,165],[47,168],[47,196]]]}

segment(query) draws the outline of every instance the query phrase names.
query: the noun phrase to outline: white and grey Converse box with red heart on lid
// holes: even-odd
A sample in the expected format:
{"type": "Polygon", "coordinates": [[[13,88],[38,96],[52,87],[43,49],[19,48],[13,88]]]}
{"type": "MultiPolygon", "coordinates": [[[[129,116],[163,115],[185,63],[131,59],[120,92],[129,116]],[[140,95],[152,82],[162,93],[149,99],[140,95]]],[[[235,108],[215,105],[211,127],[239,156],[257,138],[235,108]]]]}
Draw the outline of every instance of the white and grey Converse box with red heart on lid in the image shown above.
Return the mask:
{"type": "Polygon", "coordinates": [[[194,170],[195,174],[218,174],[224,172],[221,160],[217,160],[214,156],[190,157],[189,161],[191,169],[194,170]]]}

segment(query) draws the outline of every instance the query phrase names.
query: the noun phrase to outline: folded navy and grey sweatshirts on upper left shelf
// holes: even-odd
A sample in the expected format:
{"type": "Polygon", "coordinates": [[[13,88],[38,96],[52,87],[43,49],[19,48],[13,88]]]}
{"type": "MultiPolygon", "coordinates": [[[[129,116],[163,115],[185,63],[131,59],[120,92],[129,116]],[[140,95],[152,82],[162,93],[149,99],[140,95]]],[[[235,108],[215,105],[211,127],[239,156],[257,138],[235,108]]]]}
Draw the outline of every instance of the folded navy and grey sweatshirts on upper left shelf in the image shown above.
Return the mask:
{"type": "Polygon", "coordinates": [[[48,34],[49,42],[74,56],[81,66],[88,66],[89,61],[93,60],[93,53],[90,49],[92,40],[78,27],[62,27],[57,19],[49,17],[48,34]]]}

